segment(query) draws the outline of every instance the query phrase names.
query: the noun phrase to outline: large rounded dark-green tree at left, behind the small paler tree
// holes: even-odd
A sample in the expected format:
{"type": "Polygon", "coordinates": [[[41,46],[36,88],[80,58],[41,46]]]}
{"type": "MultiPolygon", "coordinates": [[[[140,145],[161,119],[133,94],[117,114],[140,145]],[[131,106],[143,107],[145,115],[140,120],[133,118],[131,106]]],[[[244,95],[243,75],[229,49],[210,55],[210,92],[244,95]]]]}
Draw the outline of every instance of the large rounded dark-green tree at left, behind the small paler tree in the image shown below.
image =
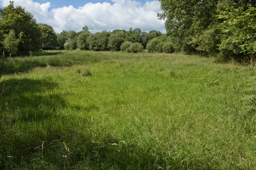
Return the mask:
{"type": "Polygon", "coordinates": [[[28,53],[41,49],[40,29],[33,16],[24,8],[14,7],[14,2],[10,1],[9,6],[0,9],[0,19],[0,42],[3,42],[3,35],[12,29],[19,39],[18,52],[28,53]]]}

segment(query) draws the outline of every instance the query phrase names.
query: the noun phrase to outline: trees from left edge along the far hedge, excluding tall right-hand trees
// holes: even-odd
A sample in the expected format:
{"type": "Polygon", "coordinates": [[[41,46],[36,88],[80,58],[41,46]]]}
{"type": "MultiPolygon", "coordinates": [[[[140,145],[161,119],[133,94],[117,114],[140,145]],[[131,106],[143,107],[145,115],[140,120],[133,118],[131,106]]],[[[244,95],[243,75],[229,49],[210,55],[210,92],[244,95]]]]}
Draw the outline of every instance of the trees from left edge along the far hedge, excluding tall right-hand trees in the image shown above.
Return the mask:
{"type": "Polygon", "coordinates": [[[37,24],[24,8],[10,5],[0,9],[0,50],[10,55],[27,55],[35,50],[81,49],[141,52],[146,44],[162,36],[159,31],[141,32],[140,28],[129,31],[115,29],[112,32],[90,33],[87,26],[81,31],[55,33],[47,24],[37,24]]]}

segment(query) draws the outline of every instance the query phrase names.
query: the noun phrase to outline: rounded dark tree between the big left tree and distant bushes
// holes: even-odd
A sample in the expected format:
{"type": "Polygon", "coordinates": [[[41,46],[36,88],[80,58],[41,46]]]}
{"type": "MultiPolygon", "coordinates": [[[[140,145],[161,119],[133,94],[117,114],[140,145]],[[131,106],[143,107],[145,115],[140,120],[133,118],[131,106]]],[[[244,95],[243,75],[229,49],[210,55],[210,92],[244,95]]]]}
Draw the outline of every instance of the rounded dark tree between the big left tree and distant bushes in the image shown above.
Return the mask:
{"type": "Polygon", "coordinates": [[[42,49],[53,49],[57,47],[57,36],[53,28],[47,24],[39,24],[43,45],[42,49]]]}

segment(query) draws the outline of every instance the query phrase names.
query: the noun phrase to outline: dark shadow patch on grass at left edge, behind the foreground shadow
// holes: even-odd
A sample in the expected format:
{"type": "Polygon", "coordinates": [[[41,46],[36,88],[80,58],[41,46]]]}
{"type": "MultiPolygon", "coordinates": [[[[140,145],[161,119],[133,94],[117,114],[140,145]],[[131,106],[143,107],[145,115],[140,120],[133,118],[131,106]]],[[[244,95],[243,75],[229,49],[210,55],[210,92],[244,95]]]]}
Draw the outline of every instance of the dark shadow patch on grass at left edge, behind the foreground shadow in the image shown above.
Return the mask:
{"type": "Polygon", "coordinates": [[[0,87],[0,108],[11,122],[42,121],[65,105],[60,96],[51,92],[57,84],[50,80],[10,79],[1,82],[0,87]]]}

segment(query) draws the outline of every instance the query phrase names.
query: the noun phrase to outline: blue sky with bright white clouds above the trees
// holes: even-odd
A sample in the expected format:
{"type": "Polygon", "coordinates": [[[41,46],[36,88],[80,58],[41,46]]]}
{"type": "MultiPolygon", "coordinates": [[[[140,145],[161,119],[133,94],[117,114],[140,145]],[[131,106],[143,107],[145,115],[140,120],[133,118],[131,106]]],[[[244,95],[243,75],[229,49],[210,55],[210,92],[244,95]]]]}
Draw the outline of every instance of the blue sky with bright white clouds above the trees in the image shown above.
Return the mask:
{"type": "MultiPolygon", "coordinates": [[[[37,23],[51,25],[54,31],[81,31],[87,25],[92,33],[114,29],[140,28],[165,33],[165,20],[159,1],[146,0],[12,0],[14,6],[22,6],[30,12],[37,23]]],[[[0,0],[6,7],[10,0],[0,0]]]]}

